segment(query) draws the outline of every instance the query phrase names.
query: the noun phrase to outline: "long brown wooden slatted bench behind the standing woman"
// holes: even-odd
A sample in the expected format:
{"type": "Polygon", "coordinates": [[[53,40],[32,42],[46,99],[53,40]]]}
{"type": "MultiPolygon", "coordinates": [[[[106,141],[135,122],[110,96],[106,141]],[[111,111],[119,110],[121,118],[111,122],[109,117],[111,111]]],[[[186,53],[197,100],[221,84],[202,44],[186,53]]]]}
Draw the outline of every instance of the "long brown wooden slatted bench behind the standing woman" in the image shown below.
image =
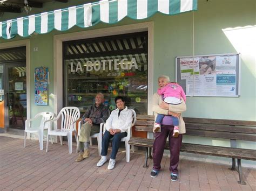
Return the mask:
{"type": "MultiPolygon", "coordinates": [[[[238,171],[238,182],[245,184],[242,180],[241,159],[256,160],[256,150],[237,148],[237,140],[256,142],[256,122],[189,117],[184,117],[184,121],[186,124],[185,135],[226,139],[230,141],[230,147],[182,143],[180,151],[232,158],[231,169],[238,171]],[[235,168],[235,159],[237,159],[238,169],[235,168]]],[[[137,115],[136,131],[153,132],[153,125],[154,116],[137,115]]],[[[146,168],[153,142],[153,139],[139,137],[131,137],[129,140],[130,145],[149,148],[146,149],[145,155],[144,167],[146,168]]],[[[168,143],[166,143],[165,149],[169,150],[168,143]]]]}

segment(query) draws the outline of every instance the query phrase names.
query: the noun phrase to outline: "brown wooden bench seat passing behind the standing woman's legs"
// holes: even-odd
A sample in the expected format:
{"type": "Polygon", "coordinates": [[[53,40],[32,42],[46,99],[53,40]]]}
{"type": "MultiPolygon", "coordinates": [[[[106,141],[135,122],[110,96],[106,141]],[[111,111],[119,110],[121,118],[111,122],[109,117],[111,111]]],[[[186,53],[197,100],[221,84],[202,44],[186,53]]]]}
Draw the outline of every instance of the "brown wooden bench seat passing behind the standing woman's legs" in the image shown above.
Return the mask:
{"type": "MultiPolygon", "coordinates": [[[[153,139],[131,137],[129,140],[130,145],[152,147],[153,139]]],[[[165,149],[169,150],[169,143],[166,142],[165,149]]],[[[246,160],[256,160],[256,150],[245,148],[231,148],[221,146],[199,145],[182,143],[181,152],[189,152],[196,154],[214,155],[218,157],[237,158],[246,160]]]]}

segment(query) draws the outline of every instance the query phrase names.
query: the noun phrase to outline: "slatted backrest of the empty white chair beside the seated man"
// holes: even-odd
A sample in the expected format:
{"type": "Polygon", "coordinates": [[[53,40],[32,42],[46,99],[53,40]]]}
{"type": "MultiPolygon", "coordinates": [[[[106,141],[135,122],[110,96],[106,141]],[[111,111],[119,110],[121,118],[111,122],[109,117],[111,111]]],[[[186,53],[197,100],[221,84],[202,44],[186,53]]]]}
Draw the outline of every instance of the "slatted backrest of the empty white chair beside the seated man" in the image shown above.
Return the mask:
{"type": "Polygon", "coordinates": [[[57,118],[62,116],[61,129],[75,129],[75,121],[80,118],[80,111],[77,107],[65,107],[60,110],[57,118]]]}

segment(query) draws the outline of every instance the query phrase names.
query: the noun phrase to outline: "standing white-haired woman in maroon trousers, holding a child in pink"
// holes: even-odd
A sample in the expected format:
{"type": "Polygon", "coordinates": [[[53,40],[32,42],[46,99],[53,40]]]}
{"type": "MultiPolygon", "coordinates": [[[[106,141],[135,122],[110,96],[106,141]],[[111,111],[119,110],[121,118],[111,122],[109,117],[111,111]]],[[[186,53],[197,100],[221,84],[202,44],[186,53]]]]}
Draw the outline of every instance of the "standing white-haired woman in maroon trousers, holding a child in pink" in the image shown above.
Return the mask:
{"type": "MultiPolygon", "coordinates": [[[[162,88],[170,82],[168,76],[162,75],[158,77],[158,87],[162,88]]],[[[157,114],[164,114],[164,118],[161,121],[161,131],[154,133],[154,144],[153,144],[153,169],[151,171],[151,177],[155,178],[161,168],[161,159],[164,154],[164,147],[167,137],[169,137],[169,147],[170,147],[170,172],[171,180],[178,180],[178,164],[179,164],[179,152],[182,142],[182,134],[186,132],[185,123],[181,116],[181,112],[186,111],[186,104],[181,98],[182,103],[178,105],[167,104],[163,102],[163,96],[155,93],[153,95],[153,111],[155,116],[157,114]],[[179,136],[173,137],[173,122],[172,116],[178,117],[179,119],[179,136]]]]}

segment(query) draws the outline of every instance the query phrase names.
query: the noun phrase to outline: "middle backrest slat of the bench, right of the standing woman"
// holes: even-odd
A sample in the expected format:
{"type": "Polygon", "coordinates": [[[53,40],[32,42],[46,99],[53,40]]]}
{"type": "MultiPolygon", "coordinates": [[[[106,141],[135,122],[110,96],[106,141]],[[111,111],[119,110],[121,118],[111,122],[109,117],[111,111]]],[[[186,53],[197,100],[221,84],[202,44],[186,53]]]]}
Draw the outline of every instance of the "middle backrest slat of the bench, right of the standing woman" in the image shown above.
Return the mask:
{"type": "Polygon", "coordinates": [[[186,123],[186,129],[199,129],[209,131],[226,131],[226,132],[237,132],[237,133],[250,133],[256,134],[256,128],[244,128],[241,126],[225,126],[225,125],[207,125],[207,124],[193,124],[186,123]]]}

